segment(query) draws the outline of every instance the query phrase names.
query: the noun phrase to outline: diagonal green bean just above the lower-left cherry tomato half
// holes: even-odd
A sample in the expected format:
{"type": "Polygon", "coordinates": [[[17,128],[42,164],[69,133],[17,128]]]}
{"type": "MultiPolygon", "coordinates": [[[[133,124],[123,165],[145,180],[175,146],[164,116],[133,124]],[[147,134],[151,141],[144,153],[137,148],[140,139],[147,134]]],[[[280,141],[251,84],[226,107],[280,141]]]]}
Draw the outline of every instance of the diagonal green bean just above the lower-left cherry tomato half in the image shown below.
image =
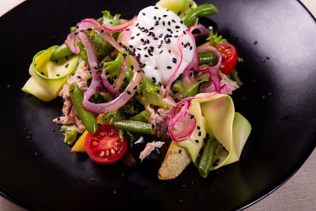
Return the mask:
{"type": "Polygon", "coordinates": [[[83,93],[81,92],[78,84],[76,82],[69,84],[68,91],[82,124],[89,133],[94,133],[97,130],[97,122],[94,114],[83,108],[83,93]]]}

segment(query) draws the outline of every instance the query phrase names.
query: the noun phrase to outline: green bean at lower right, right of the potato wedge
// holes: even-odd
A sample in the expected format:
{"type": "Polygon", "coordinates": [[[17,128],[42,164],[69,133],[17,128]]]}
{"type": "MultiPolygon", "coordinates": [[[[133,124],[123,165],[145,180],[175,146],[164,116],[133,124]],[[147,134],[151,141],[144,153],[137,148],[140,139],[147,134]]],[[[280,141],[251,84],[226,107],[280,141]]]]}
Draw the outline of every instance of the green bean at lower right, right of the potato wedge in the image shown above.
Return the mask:
{"type": "Polygon", "coordinates": [[[206,144],[203,147],[200,163],[198,165],[198,173],[206,178],[210,167],[213,165],[214,154],[218,148],[219,142],[215,138],[206,140],[206,144]]]}

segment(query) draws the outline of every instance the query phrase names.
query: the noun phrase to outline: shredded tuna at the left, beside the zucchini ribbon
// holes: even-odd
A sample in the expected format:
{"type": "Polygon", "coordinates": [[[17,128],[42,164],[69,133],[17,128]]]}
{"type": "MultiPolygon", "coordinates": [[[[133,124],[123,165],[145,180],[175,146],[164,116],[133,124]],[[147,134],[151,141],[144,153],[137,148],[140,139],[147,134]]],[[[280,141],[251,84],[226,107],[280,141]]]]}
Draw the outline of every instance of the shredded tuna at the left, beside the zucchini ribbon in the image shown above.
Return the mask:
{"type": "Polygon", "coordinates": [[[82,124],[82,121],[78,117],[78,113],[70,99],[68,84],[73,82],[77,82],[80,90],[84,93],[87,90],[86,79],[89,74],[89,69],[86,63],[80,63],[78,70],[72,76],[68,77],[67,83],[64,84],[63,89],[60,91],[59,95],[64,99],[63,105],[63,116],[52,120],[52,122],[60,124],[60,125],[76,125],[76,131],[78,133],[83,133],[85,131],[85,127],[82,124]]]}

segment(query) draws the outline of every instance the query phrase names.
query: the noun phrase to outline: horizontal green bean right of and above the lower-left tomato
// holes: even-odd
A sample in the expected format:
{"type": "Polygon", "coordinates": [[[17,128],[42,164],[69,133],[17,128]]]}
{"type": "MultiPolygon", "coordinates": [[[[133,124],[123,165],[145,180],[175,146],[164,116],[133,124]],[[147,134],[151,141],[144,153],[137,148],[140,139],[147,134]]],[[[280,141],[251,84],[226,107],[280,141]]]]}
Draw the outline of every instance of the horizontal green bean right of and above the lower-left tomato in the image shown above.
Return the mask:
{"type": "Polygon", "coordinates": [[[115,120],[114,126],[119,130],[127,130],[129,132],[143,133],[154,135],[154,127],[151,123],[132,121],[132,120],[115,120]]]}

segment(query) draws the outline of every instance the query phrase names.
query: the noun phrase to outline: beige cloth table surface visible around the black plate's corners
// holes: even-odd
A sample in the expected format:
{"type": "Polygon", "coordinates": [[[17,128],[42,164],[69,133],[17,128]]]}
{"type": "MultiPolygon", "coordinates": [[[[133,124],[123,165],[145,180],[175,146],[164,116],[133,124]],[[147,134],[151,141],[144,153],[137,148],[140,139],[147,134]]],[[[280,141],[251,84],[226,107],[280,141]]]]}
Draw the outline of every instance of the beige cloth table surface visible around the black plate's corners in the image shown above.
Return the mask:
{"type": "MultiPolygon", "coordinates": [[[[22,2],[24,0],[1,0],[0,16],[22,2]]],[[[316,0],[301,2],[316,17],[316,0]]],[[[26,209],[0,196],[0,211],[7,210],[25,211],[26,209]]],[[[316,150],[285,184],[244,210],[316,210],[316,150]]]]}

